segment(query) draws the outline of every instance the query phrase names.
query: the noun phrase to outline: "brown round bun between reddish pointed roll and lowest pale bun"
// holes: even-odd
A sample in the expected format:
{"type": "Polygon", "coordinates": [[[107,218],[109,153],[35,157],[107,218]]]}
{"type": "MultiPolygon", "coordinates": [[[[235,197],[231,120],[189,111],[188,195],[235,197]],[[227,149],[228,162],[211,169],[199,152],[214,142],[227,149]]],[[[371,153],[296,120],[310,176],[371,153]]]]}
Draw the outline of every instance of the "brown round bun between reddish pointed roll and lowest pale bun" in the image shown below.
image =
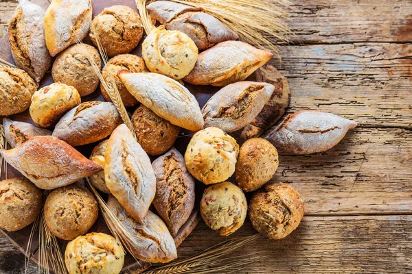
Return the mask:
{"type": "Polygon", "coordinates": [[[71,185],[53,190],[47,196],[44,212],[50,232],[60,239],[73,240],[95,223],[99,207],[87,188],[71,185]]]}

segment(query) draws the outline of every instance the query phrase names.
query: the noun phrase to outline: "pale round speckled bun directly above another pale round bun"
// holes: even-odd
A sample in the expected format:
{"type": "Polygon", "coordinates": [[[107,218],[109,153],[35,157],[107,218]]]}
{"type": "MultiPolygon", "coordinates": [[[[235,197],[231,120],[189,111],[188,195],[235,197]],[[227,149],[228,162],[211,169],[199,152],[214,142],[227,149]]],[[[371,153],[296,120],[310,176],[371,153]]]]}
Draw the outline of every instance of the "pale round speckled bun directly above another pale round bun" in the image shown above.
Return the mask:
{"type": "Polygon", "coordinates": [[[204,184],[223,182],[235,172],[239,145],[222,129],[207,127],[196,132],[187,145],[187,170],[204,184]]]}

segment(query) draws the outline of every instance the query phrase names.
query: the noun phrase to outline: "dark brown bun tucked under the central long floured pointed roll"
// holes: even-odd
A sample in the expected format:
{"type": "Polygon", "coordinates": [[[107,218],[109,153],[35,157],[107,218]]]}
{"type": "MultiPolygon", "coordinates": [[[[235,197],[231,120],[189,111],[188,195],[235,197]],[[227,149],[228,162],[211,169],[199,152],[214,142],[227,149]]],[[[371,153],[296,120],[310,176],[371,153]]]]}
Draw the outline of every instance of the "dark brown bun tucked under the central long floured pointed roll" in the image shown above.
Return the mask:
{"type": "Polygon", "coordinates": [[[180,127],[172,125],[155,112],[139,105],[132,115],[137,142],[148,155],[160,155],[173,146],[180,132],[180,127]]]}

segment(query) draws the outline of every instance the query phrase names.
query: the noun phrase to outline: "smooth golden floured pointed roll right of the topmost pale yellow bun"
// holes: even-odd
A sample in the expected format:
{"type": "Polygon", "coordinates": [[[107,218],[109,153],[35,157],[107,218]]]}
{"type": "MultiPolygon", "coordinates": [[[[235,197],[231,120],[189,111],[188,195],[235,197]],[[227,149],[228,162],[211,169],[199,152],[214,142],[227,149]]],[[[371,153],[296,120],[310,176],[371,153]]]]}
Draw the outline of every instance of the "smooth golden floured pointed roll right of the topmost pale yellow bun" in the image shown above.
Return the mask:
{"type": "Polygon", "coordinates": [[[221,42],[200,53],[194,69],[183,80],[194,85],[227,86],[243,81],[272,57],[270,51],[245,42],[221,42]]]}

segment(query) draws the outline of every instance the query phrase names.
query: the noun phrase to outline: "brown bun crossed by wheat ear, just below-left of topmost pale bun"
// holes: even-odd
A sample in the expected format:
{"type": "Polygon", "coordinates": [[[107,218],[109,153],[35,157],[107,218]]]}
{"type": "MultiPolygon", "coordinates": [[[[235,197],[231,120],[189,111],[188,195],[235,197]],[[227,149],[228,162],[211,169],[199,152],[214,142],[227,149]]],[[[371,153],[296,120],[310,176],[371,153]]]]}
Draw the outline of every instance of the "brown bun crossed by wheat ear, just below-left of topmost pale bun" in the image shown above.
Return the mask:
{"type": "MultiPolygon", "coordinates": [[[[139,102],[135,97],[133,97],[133,95],[130,94],[130,92],[128,92],[126,86],[124,86],[119,77],[117,77],[117,73],[119,71],[142,73],[144,71],[148,71],[148,69],[146,68],[146,64],[144,64],[144,60],[139,56],[133,54],[120,54],[111,58],[102,70],[102,76],[106,82],[110,79],[109,75],[111,75],[111,77],[115,80],[117,90],[119,90],[124,106],[133,107],[133,105],[137,105],[139,102]]],[[[102,84],[100,84],[100,91],[102,92],[104,99],[111,102],[111,99],[102,84]]]]}

